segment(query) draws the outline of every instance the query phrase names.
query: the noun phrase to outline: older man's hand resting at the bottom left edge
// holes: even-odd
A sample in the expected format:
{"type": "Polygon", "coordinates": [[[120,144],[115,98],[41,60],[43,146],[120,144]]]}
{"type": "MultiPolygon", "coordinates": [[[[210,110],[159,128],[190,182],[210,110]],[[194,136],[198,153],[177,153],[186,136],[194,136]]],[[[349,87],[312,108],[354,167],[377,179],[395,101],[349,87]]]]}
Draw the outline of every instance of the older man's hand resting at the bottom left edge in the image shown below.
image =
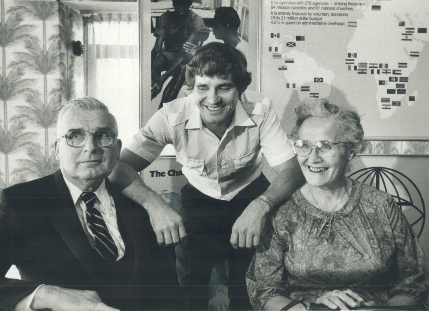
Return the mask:
{"type": "Polygon", "coordinates": [[[30,308],[52,311],[119,311],[104,304],[92,290],[70,290],[51,285],[39,288],[30,308]]]}

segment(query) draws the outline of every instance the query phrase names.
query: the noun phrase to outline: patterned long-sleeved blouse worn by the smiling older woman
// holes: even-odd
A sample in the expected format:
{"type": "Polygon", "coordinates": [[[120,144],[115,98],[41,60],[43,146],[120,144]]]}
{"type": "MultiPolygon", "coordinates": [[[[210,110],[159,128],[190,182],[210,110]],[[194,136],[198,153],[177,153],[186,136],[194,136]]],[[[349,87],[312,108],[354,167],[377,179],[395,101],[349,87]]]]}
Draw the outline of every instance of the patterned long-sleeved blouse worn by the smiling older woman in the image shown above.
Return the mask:
{"type": "Polygon", "coordinates": [[[257,310],[278,295],[309,304],[351,289],[384,305],[399,294],[424,303],[429,291],[423,249],[401,209],[390,194],[355,180],[333,213],[296,190],[267,217],[246,278],[257,310]]]}

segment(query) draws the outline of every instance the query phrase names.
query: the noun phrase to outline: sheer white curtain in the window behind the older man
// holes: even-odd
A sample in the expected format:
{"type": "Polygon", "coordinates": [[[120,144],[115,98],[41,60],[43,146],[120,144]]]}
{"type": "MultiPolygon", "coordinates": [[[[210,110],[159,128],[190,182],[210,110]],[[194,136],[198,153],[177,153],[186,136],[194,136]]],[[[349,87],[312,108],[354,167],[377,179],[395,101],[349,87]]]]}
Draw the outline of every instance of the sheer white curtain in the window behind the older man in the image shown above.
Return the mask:
{"type": "Polygon", "coordinates": [[[84,49],[86,94],[109,107],[126,144],[139,129],[137,14],[84,17],[84,49]]]}

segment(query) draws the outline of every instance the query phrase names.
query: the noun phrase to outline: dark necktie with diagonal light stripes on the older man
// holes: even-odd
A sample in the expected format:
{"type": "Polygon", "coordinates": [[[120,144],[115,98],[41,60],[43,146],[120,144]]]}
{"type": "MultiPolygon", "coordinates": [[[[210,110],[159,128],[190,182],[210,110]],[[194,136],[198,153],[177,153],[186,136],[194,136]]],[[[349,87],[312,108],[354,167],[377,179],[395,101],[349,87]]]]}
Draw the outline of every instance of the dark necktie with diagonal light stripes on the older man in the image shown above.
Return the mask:
{"type": "Polygon", "coordinates": [[[113,242],[112,236],[103,220],[103,216],[101,216],[100,211],[94,207],[97,196],[94,192],[82,192],[81,197],[86,205],[86,219],[89,228],[95,237],[95,250],[105,260],[115,262],[118,257],[118,247],[115,245],[115,242],[113,242]]]}

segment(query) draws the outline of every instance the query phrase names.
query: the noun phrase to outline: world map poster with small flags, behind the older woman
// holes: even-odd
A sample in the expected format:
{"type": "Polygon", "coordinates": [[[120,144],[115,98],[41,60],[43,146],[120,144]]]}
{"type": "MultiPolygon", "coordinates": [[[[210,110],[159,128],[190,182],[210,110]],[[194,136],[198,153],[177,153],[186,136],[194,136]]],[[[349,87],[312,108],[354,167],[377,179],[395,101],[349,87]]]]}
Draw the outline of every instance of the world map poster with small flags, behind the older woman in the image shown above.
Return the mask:
{"type": "Polygon", "coordinates": [[[428,15],[425,0],[263,1],[261,90],[286,133],[302,100],[327,98],[367,139],[428,139],[428,15]]]}

